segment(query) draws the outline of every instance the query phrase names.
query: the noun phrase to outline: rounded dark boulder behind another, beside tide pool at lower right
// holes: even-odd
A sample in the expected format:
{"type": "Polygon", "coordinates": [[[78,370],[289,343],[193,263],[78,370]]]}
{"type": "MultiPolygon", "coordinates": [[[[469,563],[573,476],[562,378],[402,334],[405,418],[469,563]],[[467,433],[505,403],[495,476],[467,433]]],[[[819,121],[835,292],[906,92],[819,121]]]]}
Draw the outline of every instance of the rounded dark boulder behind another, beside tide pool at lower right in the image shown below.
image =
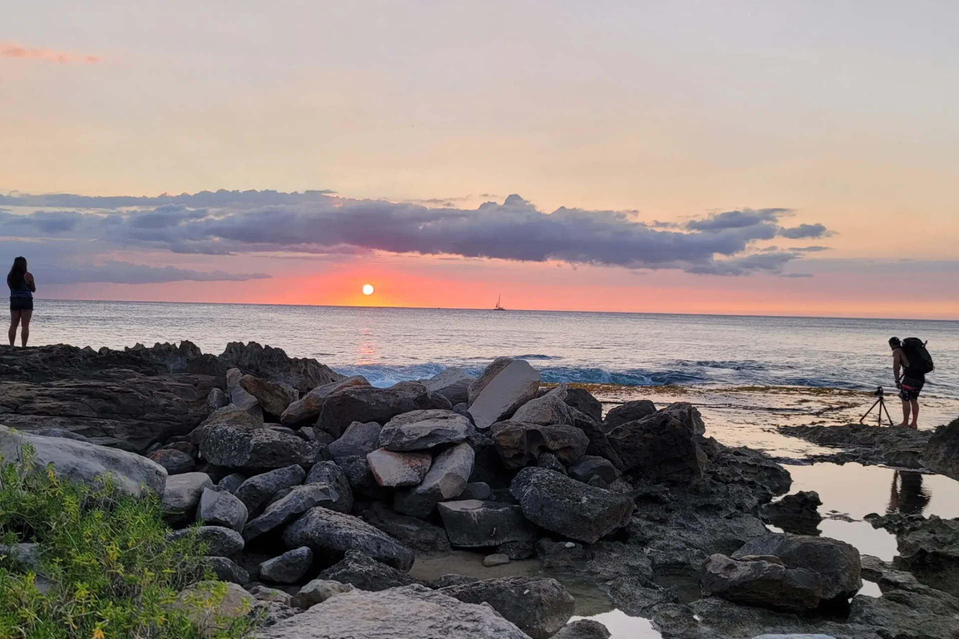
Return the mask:
{"type": "Polygon", "coordinates": [[[765,535],[746,542],[733,559],[772,555],[786,568],[807,568],[823,578],[823,600],[849,599],[862,587],[859,552],[845,541],[824,536],[765,535]]]}

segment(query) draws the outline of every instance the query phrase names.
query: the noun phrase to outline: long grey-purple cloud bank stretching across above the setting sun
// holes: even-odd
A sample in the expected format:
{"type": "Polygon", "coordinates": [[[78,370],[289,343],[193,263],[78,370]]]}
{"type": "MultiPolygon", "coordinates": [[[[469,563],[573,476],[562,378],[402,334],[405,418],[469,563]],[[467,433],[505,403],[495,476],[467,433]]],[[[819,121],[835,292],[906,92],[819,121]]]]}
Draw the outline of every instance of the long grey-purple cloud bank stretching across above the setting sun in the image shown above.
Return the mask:
{"type": "MultiPolygon", "coordinates": [[[[780,208],[728,211],[685,225],[663,225],[639,221],[633,212],[562,207],[547,214],[519,195],[510,195],[503,204],[486,202],[477,209],[349,199],[319,191],[219,191],[159,197],[11,194],[0,196],[0,206],[45,209],[25,215],[0,211],[0,236],[82,240],[91,248],[99,245],[100,250],[105,244],[207,255],[330,254],[363,249],[519,262],[678,268],[715,275],[778,273],[786,262],[800,259],[804,250],[810,249],[760,252],[753,249],[755,242],[829,235],[822,224],[781,226],[789,211],[780,208]]],[[[86,278],[77,281],[105,282],[117,280],[89,278],[154,282],[172,280],[151,278],[267,277],[142,268],[147,270],[107,263],[90,266],[85,275],[75,277],[86,278]],[[124,268],[129,273],[120,273],[124,268]]]]}

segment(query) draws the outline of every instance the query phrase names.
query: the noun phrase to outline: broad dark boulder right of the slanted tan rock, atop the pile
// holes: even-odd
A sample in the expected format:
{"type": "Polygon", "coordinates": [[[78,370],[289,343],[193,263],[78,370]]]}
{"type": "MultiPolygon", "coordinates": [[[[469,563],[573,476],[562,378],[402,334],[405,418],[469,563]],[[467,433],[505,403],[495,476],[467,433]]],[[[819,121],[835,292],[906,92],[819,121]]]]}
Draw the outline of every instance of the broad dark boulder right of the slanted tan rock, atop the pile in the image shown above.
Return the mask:
{"type": "Polygon", "coordinates": [[[316,426],[339,439],[353,422],[386,423],[397,415],[434,407],[431,393],[418,381],[401,381],[389,388],[350,386],[326,398],[316,426]]]}

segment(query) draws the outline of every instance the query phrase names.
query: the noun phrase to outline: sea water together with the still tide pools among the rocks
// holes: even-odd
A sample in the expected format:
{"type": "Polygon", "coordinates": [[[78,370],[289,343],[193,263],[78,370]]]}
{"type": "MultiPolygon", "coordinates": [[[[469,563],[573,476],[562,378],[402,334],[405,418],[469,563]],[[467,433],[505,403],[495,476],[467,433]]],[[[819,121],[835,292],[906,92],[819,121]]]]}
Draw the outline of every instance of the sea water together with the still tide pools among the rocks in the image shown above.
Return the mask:
{"type": "MultiPolygon", "coordinates": [[[[31,343],[122,349],[189,339],[204,353],[256,341],[315,357],[378,386],[431,377],[448,366],[479,372],[495,357],[522,357],[546,381],[586,384],[604,408],[629,399],[695,404],[707,434],[748,445],[787,464],[791,492],[818,491],[823,535],[863,554],[893,559],[896,539],[864,515],[901,511],[959,516],[959,482],[897,468],[808,464],[829,449],[785,437],[777,426],[858,421],[876,398],[895,398],[889,337],[921,337],[936,361],[927,377],[921,428],[959,416],[959,322],[727,315],[336,308],[37,300],[31,343]]],[[[867,418],[876,422],[874,411],[867,418]]],[[[474,553],[417,560],[415,576],[451,572],[488,578],[530,574],[535,560],[485,568],[474,553]]],[[[594,584],[563,580],[576,615],[596,619],[613,639],[656,639],[646,619],[616,609],[594,584]]],[[[879,596],[877,584],[861,591],[879,596]]]]}

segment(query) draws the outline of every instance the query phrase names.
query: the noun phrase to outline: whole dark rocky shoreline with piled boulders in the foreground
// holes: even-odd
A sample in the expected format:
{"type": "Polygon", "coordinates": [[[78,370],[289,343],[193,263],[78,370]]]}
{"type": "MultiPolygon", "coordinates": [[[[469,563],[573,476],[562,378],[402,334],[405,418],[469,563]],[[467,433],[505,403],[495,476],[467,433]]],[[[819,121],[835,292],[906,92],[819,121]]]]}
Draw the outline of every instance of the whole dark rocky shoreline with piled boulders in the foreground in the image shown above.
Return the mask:
{"type": "MultiPolygon", "coordinates": [[[[202,521],[219,577],[266,610],[264,639],[608,636],[567,623],[554,577],[571,574],[670,639],[959,637],[955,520],[878,518],[902,559],[860,558],[818,535],[815,493],[779,499],[788,471],[708,437],[692,405],[603,415],[519,359],[384,389],[255,343],[0,347],[0,423],[8,459],[28,441],[72,478],[157,491],[172,536],[202,521]],[[451,549],[542,571],[409,575],[451,549]],[[883,596],[857,594],[863,577],[883,596]]],[[[783,432],[842,447],[830,461],[959,479],[959,421],[783,432]]]]}

